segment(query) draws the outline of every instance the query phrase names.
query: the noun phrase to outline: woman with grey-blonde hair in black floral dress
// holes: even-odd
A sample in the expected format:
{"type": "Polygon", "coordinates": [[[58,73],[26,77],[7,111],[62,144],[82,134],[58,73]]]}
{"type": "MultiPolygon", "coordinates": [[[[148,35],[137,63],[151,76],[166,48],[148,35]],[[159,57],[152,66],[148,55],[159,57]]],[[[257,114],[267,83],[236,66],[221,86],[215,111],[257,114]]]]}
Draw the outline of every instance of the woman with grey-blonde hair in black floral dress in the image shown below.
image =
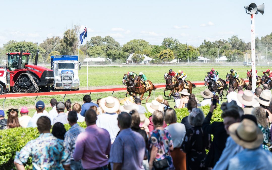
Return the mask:
{"type": "Polygon", "coordinates": [[[188,116],[189,123],[193,126],[188,129],[181,145],[186,153],[187,170],[205,169],[206,149],[209,149],[211,138],[202,130],[204,114],[198,108],[192,109],[188,116]]]}

